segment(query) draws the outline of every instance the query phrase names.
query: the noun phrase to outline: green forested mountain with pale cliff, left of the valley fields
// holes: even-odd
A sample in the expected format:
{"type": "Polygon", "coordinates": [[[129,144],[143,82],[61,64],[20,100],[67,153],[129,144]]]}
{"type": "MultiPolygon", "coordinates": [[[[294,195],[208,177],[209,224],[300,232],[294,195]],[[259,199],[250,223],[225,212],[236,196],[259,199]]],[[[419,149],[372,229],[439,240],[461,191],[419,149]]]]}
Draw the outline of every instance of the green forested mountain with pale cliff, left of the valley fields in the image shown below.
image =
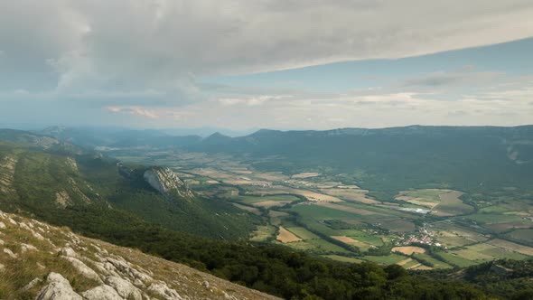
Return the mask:
{"type": "Polygon", "coordinates": [[[0,136],[20,142],[0,142],[0,207],[9,211],[51,221],[58,210],[69,218],[79,210],[123,210],[216,239],[246,238],[257,223],[256,216],[229,203],[196,196],[169,169],[129,167],[90,151],[59,152],[55,145],[70,144],[23,131],[2,130],[0,136]],[[43,139],[53,143],[35,146],[43,139]]]}

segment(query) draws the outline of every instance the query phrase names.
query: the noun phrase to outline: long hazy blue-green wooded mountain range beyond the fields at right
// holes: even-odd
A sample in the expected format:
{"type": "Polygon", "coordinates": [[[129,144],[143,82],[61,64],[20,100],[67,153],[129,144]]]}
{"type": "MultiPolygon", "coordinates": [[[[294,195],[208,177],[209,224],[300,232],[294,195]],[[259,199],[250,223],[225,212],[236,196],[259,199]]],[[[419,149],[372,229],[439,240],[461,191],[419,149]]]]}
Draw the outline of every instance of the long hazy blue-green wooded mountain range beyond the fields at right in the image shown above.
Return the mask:
{"type": "Polygon", "coordinates": [[[241,155],[261,171],[355,174],[383,200],[407,187],[472,193],[533,189],[533,126],[259,130],[185,148],[241,155]]]}

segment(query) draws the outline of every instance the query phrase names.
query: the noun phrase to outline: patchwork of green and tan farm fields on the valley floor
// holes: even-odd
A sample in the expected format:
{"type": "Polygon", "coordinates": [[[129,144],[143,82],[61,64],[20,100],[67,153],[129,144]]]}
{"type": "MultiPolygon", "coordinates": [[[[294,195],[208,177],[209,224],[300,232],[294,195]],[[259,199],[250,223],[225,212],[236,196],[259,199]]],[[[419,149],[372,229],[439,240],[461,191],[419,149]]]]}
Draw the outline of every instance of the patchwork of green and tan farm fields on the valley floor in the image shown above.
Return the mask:
{"type": "Polygon", "coordinates": [[[228,155],[174,154],[158,156],[156,162],[169,164],[201,195],[260,216],[264,224],[251,241],[344,262],[371,260],[417,270],[533,256],[527,246],[533,246],[533,205],[528,202],[482,200],[475,211],[472,197],[478,195],[449,186],[407,185],[387,198],[365,189],[357,172],[258,171],[228,155]],[[426,250],[430,245],[435,255],[426,250]]]}

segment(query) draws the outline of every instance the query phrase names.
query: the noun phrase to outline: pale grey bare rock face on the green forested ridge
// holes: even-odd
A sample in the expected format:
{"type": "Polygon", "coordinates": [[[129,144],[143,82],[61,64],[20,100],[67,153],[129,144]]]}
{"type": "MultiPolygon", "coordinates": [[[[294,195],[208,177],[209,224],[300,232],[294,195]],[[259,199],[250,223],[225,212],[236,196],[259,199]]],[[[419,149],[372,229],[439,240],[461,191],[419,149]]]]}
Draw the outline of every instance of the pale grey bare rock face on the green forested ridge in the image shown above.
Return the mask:
{"type": "Polygon", "coordinates": [[[151,167],[145,171],[143,177],[146,183],[166,197],[170,197],[174,192],[184,198],[194,197],[187,184],[169,168],[151,167]]]}

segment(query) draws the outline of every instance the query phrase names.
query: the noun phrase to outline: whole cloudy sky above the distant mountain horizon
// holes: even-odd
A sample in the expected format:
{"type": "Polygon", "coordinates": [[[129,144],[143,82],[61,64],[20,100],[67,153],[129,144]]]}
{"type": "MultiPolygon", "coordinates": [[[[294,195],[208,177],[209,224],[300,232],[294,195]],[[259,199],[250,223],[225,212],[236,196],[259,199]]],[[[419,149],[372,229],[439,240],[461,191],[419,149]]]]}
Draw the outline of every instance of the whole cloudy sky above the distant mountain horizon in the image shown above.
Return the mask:
{"type": "Polygon", "coordinates": [[[533,124],[530,0],[3,0],[0,127],[533,124]]]}

